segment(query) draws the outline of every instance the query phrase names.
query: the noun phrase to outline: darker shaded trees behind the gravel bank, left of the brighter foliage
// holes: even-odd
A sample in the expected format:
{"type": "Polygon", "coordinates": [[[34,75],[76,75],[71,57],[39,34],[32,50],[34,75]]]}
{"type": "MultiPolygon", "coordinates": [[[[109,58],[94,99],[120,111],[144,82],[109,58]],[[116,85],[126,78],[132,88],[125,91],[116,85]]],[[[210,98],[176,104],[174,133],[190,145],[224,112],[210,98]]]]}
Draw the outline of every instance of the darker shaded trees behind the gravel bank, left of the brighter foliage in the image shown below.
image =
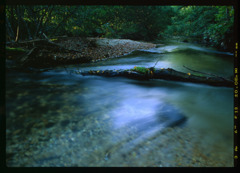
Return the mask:
{"type": "Polygon", "coordinates": [[[14,40],[57,35],[154,40],[171,22],[162,6],[7,6],[8,36],[14,40]],[[14,34],[12,33],[14,32],[14,34]]]}

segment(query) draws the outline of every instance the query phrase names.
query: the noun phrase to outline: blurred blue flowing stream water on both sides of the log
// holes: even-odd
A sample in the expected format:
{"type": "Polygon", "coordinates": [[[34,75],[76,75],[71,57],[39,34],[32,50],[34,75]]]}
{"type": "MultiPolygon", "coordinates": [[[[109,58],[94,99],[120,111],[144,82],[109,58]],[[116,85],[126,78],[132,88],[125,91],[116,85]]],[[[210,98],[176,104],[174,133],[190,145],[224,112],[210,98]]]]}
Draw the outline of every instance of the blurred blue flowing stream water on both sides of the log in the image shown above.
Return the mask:
{"type": "Polygon", "coordinates": [[[71,72],[157,61],[233,75],[231,55],[186,43],[43,73],[8,70],[7,166],[233,166],[232,88],[71,72]]]}

